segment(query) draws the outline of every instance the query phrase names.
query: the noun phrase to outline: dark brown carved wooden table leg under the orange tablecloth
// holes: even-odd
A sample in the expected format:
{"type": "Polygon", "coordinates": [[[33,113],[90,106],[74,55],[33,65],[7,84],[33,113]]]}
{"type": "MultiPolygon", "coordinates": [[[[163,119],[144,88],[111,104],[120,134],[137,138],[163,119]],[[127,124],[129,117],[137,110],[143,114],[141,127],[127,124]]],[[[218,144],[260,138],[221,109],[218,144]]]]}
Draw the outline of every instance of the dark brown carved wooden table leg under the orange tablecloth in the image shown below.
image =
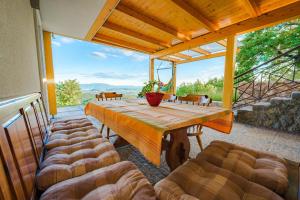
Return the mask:
{"type": "Polygon", "coordinates": [[[170,170],[173,171],[188,159],[190,141],[187,136],[187,128],[174,130],[170,135],[170,143],[166,148],[166,161],[170,170]]]}

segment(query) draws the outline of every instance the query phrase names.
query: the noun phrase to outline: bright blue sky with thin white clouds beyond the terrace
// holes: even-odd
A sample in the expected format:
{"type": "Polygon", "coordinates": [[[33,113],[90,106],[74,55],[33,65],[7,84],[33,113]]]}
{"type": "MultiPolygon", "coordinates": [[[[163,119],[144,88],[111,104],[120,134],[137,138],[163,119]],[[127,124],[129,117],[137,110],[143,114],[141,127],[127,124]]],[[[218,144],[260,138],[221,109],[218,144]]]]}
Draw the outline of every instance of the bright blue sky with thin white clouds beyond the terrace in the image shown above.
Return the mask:
{"type": "MultiPolygon", "coordinates": [[[[55,82],[77,79],[79,83],[106,83],[110,85],[141,86],[148,80],[149,55],[131,50],[75,40],[59,35],[52,38],[55,82]]],[[[155,68],[171,64],[157,60],[155,68]]],[[[221,77],[224,57],[177,65],[177,85],[205,82],[221,77]]],[[[167,83],[172,70],[160,70],[159,77],[167,83]]],[[[155,77],[157,73],[155,70],[155,77]]]]}

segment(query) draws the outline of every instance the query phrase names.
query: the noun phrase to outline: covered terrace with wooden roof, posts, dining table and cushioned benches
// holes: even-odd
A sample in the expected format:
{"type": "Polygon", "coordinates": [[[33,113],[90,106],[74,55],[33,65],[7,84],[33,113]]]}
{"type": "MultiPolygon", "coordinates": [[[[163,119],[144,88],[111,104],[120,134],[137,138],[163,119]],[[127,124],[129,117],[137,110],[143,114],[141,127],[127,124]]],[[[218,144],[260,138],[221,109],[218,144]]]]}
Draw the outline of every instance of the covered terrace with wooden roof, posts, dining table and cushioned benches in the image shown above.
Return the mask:
{"type": "Polygon", "coordinates": [[[238,35],[299,18],[299,0],[3,0],[0,13],[1,199],[300,199],[299,133],[232,112],[238,35]],[[225,56],[222,106],[58,110],[53,33],[146,53],[149,81],[171,62],[173,94],[178,65],[225,56]]]}

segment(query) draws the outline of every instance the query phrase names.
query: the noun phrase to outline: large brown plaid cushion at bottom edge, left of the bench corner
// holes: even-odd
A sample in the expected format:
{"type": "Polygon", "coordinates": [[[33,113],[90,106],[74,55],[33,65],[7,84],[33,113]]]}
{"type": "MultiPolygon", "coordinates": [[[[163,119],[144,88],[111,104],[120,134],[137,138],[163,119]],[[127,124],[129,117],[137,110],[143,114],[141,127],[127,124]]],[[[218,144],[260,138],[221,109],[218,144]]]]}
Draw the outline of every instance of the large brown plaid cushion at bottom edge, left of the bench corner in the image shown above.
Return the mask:
{"type": "Polygon", "coordinates": [[[41,200],[155,200],[152,185],[129,162],[123,161],[60,182],[44,192],[41,200]]]}

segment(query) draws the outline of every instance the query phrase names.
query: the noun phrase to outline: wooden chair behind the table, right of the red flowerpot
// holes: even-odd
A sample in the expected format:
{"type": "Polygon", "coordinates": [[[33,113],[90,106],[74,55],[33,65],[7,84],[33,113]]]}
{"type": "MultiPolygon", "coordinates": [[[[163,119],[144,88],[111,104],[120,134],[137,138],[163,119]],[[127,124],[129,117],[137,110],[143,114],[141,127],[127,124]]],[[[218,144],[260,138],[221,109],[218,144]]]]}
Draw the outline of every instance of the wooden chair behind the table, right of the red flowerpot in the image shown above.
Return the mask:
{"type": "MultiPolygon", "coordinates": [[[[207,95],[187,95],[185,97],[178,97],[178,101],[183,103],[184,101],[188,104],[192,102],[193,105],[202,105],[202,106],[209,106],[212,100],[207,95]]],[[[202,125],[198,124],[195,126],[191,126],[187,129],[188,137],[196,137],[197,142],[201,151],[203,151],[203,145],[201,140],[201,135],[203,134],[202,125]]]]}

